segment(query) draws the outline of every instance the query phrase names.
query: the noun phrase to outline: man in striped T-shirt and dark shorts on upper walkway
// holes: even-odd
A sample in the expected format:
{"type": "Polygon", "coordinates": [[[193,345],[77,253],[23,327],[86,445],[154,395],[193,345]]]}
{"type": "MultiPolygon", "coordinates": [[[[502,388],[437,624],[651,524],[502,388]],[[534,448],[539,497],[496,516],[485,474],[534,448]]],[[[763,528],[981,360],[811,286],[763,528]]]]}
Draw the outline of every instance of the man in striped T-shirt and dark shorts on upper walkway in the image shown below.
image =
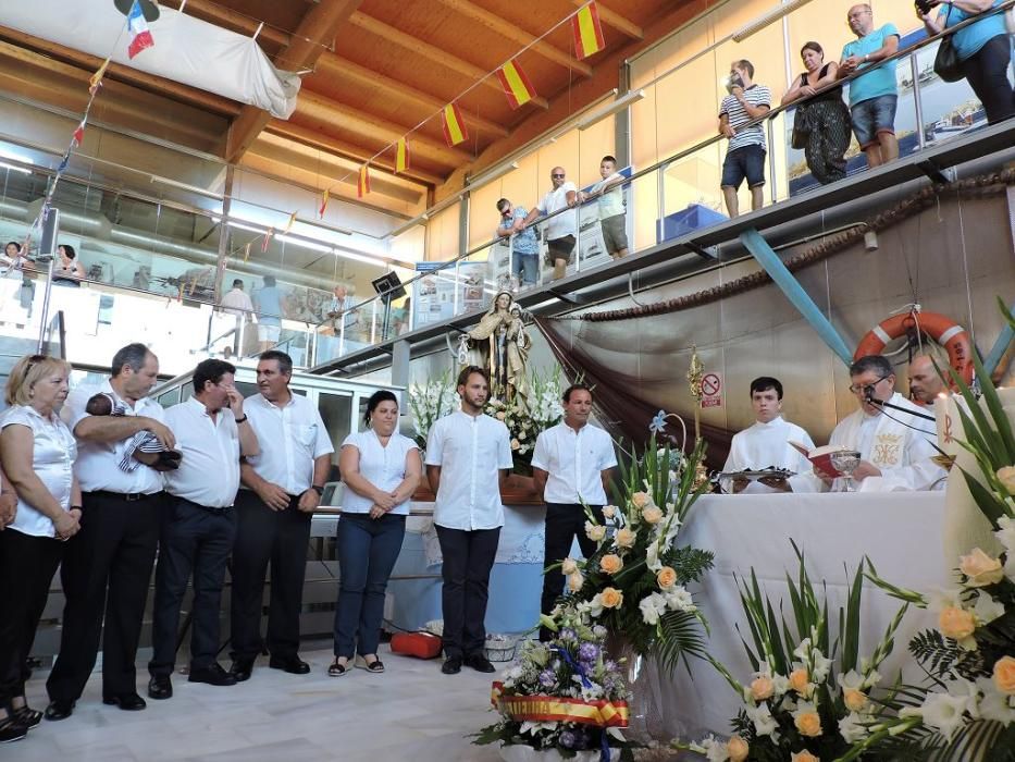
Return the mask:
{"type": "Polygon", "coordinates": [[[731,218],[740,214],[737,192],[744,179],[751,188],[751,209],[760,209],[765,187],[765,126],[748,122],[768,113],[771,109],[771,93],[764,85],[756,85],[754,65],[747,60],[733,61],[730,65],[729,91],[719,108],[719,134],[729,138],[730,145],[722,162],[722,197],[731,218]]]}

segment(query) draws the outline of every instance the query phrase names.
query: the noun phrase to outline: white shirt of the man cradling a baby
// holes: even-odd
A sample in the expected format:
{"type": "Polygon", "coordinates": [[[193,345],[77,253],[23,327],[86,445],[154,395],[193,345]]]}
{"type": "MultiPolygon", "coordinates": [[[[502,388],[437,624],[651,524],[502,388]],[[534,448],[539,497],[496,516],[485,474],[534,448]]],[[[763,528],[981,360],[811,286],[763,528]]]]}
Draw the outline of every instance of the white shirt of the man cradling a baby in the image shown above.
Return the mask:
{"type": "MultiPolygon", "coordinates": [[[[113,391],[109,379],[107,379],[97,386],[77,386],[67,395],[67,401],[61,410],[61,417],[72,432],[82,420],[88,417],[85,406],[88,404],[88,400],[99,392],[112,394],[113,400],[124,408],[125,416],[145,416],[161,423],[165,422],[165,410],[154,400],[145,397],[138,400],[134,403],[134,407],[131,407],[113,391]]],[[[81,483],[83,492],[106,490],[121,494],[153,494],[162,490],[162,474],[156,469],[143,464],[138,464],[137,468],[129,472],[120,468],[120,460],[123,457],[120,447],[128,439],[131,438],[126,437],[119,442],[81,441],[78,443],[74,472],[77,474],[77,481],[81,483]]]]}

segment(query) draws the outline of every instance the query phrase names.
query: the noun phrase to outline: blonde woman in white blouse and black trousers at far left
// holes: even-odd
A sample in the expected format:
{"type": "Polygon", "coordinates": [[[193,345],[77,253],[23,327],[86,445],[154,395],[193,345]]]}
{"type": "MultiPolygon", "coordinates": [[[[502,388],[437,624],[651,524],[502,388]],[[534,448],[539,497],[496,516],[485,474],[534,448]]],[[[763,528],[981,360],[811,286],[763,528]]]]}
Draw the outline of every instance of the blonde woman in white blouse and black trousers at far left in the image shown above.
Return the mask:
{"type": "Polygon", "coordinates": [[[42,713],[25,702],[32,650],[49,583],[77,533],[81,488],[72,467],[74,435],[60,420],[71,366],[22,357],[8,378],[0,415],[0,462],[17,492],[14,520],[0,532],[0,741],[24,738],[42,713]]]}

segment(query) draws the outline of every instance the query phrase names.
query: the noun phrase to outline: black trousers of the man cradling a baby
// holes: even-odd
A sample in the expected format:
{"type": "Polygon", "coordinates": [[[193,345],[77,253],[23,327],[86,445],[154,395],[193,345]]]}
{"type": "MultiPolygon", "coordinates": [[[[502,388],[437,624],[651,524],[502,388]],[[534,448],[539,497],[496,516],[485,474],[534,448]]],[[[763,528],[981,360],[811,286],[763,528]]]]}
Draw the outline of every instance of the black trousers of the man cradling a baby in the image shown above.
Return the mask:
{"type": "Polygon", "coordinates": [[[137,690],[137,644],[159,544],[162,493],[82,494],[81,531],[67,542],[60,578],[66,603],[60,654],[46,690],[76,701],[102,639],[102,695],[137,690]],[[103,629],[104,619],[104,629],[103,629]]]}

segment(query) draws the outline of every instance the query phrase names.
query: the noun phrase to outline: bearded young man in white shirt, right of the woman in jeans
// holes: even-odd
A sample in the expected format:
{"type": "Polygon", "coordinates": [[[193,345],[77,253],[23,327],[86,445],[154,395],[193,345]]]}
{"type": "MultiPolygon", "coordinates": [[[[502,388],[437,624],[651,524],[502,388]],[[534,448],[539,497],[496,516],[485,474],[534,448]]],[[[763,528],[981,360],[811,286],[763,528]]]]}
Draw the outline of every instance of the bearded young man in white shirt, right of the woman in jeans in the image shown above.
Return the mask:
{"type": "Polygon", "coordinates": [[[433,523],[444,557],[445,675],[465,663],[495,672],[486,659],[486,599],[490,572],[504,526],[500,486],[507,479],[511,444],[507,427],[483,414],[490,376],[470,365],[458,374],[461,409],[434,422],[426,439],[426,479],[436,497],[433,523]]]}

